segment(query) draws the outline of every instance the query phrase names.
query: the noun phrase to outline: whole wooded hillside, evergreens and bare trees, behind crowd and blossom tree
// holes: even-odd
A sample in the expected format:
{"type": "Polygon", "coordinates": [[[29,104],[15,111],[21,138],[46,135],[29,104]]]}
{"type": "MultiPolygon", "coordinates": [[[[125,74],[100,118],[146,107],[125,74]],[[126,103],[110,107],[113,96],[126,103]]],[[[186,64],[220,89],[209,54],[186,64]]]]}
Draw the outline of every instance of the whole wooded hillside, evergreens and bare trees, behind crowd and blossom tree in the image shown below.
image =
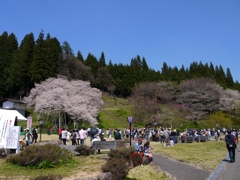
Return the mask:
{"type": "MultiPolygon", "coordinates": [[[[14,33],[3,32],[0,69],[0,99],[22,99],[36,83],[61,75],[68,80],[89,81],[91,87],[112,98],[127,98],[127,107],[133,107],[131,113],[126,109],[119,113],[132,114],[140,124],[157,121],[180,126],[185,120],[196,123],[217,112],[225,114],[214,117],[213,124],[225,116],[235,127],[239,124],[240,84],[233,81],[230,69],[225,72],[221,65],[193,62],[178,69],[163,62],[161,70],[155,71],[139,55],[129,64],[106,63],[104,52],[99,58],[89,53],[84,59],[80,50],[74,55],[67,41],[61,45],[56,37],[41,31],[37,38],[27,34],[22,42],[14,33]]],[[[116,117],[115,112],[103,111],[116,117]]]]}

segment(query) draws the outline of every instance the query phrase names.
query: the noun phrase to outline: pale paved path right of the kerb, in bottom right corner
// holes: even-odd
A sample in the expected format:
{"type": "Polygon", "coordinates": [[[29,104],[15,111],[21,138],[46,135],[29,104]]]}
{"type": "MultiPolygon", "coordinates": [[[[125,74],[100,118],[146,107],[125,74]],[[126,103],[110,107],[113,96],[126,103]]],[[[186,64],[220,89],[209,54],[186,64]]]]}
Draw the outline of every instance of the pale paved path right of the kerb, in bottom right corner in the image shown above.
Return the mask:
{"type": "MultiPolygon", "coordinates": [[[[226,149],[227,152],[227,149],[226,149]]],[[[228,153],[211,175],[209,180],[238,180],[240,179],[240,146],[236,149],[236,162],[230,163],[228,153]]]]}

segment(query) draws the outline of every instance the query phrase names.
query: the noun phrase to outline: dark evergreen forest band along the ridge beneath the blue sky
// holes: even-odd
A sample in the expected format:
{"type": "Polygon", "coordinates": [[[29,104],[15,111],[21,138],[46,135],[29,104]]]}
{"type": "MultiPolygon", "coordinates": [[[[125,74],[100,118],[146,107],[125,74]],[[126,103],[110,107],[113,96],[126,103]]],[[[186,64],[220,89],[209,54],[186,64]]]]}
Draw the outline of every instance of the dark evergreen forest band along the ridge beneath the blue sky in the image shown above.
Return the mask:
{"type": "Polygon", "coordinates": [[[21,42],[17,41],[14,33],[3,32],[0,36],[0,69],[0,98],[20,99],[30,92],[34,83],[58,74],[69,79],[90,81],[93,87],[119,97],[129,97],[134,85],[141,82],[179,84],[197,77],[209,77],[224,88],[240,90],[239,82],[233,81],[230,69],[225,72],[221,65],[193,62],[189,67],[178,69],[163,62],[161,70],[155,71],[139,55],[126,65],[112,64],[111,60],[106,63],[104,52],[99,58],[89,53],[84,59],[80,50],[75,56],[70,44],[64,42],[61,45],[56,37],[45,36],[43,31],[37,38],[29,33],[21,42]]]}

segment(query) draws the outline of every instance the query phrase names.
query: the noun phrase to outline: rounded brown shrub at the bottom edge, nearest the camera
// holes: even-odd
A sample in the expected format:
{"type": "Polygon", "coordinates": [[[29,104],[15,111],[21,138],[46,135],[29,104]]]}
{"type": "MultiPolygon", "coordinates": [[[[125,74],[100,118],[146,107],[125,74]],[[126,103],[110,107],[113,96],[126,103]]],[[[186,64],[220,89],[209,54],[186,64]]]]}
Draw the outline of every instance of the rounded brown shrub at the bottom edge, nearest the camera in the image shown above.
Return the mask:
{"type": "Polygon", "coordinates": [[[102,166],[102,171],[111,172],[114,180],[122,180],[128,174],[128,166],[128,162],[125,159],[111,158],[102,166]]]}

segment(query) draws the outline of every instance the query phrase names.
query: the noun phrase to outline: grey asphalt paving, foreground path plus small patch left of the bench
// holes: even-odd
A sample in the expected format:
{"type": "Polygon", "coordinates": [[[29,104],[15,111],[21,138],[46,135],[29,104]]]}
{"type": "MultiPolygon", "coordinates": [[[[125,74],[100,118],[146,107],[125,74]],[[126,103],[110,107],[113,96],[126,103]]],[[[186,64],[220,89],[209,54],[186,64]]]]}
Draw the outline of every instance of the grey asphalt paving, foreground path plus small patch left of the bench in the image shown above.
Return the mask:
{"type": "MultiPolygon", "coordinates": [[[[76,148],[76,146],[70,145],[60,146],[69,149],[73,153],[76,148]]],[[[240,180],[240,146],[236,149],[236,162],[230,163],[227,154],[214,172],[175,161],[162,155],[153,154],[153,158],[155,165],[177,180],[240,180]]]]}

